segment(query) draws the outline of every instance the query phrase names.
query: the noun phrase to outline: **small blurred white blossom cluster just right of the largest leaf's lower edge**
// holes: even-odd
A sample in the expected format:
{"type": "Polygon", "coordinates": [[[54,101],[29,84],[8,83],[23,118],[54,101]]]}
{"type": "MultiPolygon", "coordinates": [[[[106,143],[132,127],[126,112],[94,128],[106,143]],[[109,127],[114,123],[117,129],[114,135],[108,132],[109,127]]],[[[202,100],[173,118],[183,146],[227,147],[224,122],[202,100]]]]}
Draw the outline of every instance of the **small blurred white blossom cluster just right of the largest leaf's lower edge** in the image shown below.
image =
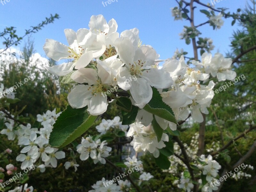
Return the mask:
{"type": "Polygon", "coordinates": [[[105,134],[107,131],[111,131],[111,128],[113,129],[120,129],[127,134],[127,129],[129,128],[128,125],[122,125],[122,122],[120,121],[120,117],[116,116],[113,120],[106,120],[102,119],[102,122],[96,126],[96,129],[98,132],[100,132],[100,135],[105,134]]]}

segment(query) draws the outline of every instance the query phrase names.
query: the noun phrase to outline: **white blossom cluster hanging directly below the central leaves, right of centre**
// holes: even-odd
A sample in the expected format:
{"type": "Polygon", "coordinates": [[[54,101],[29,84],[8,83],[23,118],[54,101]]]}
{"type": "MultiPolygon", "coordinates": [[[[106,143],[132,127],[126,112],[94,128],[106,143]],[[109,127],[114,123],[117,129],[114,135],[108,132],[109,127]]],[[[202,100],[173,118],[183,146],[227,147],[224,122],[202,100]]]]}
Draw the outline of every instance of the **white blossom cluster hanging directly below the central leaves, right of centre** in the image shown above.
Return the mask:
{"type": "Polygon", "coordinates": [[[130,125],[127,136],[133,137],[131,145],[136,152],[149,151],[155,157],[159,156],[158,149],[166,146],[164,141],[169,141],[168,135],[163,133],[161,140],[158,142],[156,133],[151,124],[144,126],[137,122],[130,125]]]}

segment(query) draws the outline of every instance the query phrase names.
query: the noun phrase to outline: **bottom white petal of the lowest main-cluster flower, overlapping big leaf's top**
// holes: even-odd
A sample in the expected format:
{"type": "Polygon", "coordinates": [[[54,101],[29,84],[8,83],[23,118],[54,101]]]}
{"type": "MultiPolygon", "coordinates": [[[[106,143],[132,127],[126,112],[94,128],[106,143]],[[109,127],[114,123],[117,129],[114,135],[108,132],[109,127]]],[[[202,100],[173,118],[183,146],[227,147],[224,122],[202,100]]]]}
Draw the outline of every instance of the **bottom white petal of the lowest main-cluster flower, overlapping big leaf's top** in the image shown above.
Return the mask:
{"type": "Polygon", "coordinates": [[[92,96],[88,103],[88,111],[91,115],[101,115],[106,112],[108,108],[107,97],[103,97],[101,93],[92,96]]]}

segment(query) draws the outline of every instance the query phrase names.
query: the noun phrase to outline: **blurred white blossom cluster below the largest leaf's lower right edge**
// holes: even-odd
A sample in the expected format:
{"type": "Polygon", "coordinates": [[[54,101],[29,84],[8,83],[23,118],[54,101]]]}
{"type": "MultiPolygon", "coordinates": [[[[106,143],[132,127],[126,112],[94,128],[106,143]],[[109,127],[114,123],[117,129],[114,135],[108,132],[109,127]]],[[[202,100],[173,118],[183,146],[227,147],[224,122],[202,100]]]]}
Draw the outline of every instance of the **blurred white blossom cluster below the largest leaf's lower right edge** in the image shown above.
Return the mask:
{"type": "Polygon", "coordinates": [[[107,141],[101,142],[100,139],[94,141],[92,136],[82,138],[81,144],[77,145],[77,152],[80,154],[82,161],[92,158],[94,164],[100,162],[106,164],[105,157],[110,156],[111,147],[107,146],[107,141]]]}

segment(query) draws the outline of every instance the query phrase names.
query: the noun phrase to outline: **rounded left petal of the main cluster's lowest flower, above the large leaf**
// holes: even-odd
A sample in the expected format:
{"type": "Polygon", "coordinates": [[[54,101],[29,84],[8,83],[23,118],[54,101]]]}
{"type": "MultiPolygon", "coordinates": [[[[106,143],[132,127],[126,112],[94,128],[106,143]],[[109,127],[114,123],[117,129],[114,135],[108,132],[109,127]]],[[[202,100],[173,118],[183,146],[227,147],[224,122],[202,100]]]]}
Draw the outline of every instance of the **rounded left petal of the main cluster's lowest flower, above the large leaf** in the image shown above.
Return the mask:
{"type": "Polygon", "coordinates": [[[92,92],[88,85],[76,85],[68,94],[68,102],[72,108],[83,108],[92,98],[92,92]],[[88,90],[89,89],[89,90],[88,90]]]}

